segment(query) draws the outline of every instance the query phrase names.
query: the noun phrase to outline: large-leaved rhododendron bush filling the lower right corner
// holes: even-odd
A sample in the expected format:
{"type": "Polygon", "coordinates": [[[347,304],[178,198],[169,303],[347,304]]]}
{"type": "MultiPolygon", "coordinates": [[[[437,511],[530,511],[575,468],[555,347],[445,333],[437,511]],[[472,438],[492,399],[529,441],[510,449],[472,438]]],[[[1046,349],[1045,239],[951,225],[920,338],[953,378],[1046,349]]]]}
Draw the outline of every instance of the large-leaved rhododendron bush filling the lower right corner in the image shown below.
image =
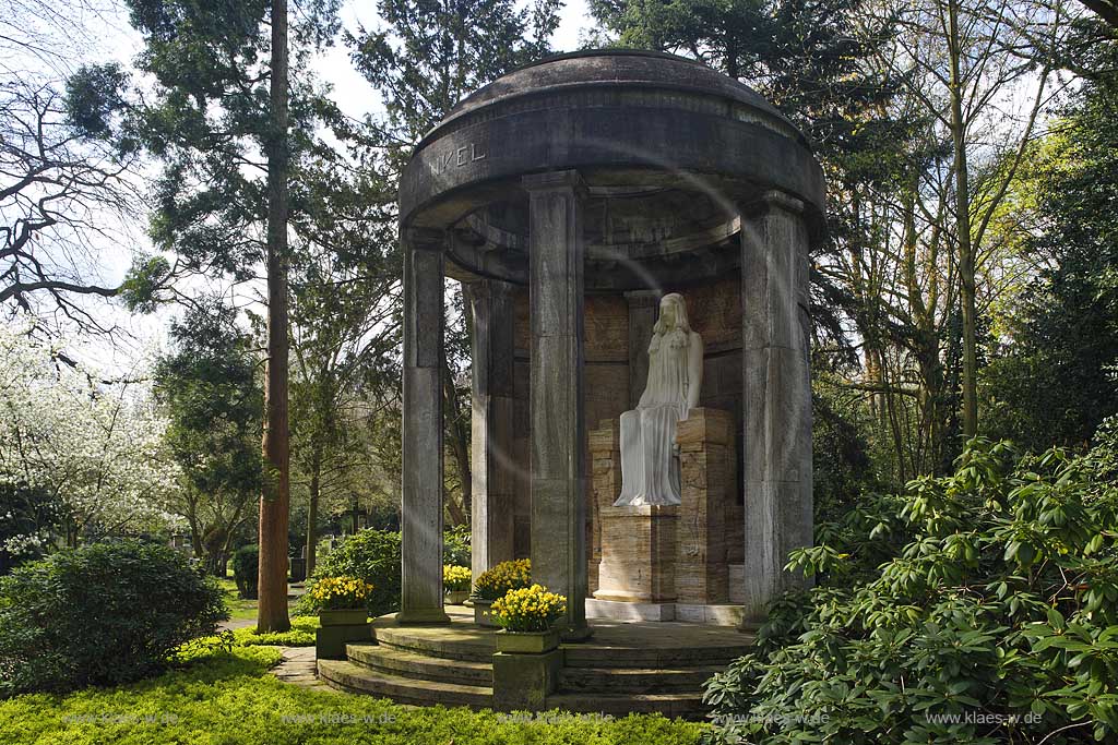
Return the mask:
{"type": "Polygon", "coordinates": [[[757,651],[708,682],[722,723],[708,739],[1114,741],[1118,479],[1107,452],[1020,458],[973,440],[954,475],[875,502],[894,510],[866,533],[795,552],[789,566],[830,584],[776,603],[757,651]],[[906,536],[877,569],[845,574],[865,567],[869,556],[851,556],[864,544],[906,536]]]}

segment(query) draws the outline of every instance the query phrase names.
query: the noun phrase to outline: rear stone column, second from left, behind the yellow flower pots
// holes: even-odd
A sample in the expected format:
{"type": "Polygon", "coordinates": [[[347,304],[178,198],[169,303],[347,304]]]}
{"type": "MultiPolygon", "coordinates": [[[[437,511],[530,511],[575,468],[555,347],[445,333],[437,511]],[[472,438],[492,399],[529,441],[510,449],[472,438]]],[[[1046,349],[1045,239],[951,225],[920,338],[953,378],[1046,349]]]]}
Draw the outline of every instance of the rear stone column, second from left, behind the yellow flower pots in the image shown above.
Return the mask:
{"type": "Polygon", "coordinates": [[[471,402],[471,564],[476,577],[513,558],[513,287],[464,285],[474,319],[471,402]]]}

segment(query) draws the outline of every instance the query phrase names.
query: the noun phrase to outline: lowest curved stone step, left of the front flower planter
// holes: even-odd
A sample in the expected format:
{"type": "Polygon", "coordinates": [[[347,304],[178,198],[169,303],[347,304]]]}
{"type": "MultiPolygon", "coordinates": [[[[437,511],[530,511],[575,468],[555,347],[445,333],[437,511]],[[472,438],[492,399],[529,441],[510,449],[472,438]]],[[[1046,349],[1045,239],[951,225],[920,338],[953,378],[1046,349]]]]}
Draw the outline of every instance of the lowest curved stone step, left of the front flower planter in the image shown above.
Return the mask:
{"type": "Polygon", "coordinates": [[[385,696],[398,704],[416,706],[442,704],[468,706],[473,709],[493,706],[493,689],[486,686],[402,678],[376,672],[348,660],[319,660],[319,678],[334,688],[351,694],[385,696]]]}

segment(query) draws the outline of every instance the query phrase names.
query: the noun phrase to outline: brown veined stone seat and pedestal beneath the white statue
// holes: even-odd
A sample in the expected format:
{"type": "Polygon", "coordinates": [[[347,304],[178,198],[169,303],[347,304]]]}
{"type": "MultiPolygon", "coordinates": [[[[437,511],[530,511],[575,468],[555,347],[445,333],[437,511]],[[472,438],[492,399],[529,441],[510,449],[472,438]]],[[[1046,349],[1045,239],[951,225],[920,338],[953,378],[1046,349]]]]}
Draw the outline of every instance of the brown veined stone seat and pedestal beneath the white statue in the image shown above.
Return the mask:
{"type": "Polygon", "coordinates": [[[665,621],[684,615],[701,622],[740,618],[729,611],[702,611],[729,603],[723,520],[733,499],[732,416],[692,409],[679,423],[680,505],[615,507],[622,479],[618,422],[601,422],[589,439],[601,531],[593,612],[665,621]]]}

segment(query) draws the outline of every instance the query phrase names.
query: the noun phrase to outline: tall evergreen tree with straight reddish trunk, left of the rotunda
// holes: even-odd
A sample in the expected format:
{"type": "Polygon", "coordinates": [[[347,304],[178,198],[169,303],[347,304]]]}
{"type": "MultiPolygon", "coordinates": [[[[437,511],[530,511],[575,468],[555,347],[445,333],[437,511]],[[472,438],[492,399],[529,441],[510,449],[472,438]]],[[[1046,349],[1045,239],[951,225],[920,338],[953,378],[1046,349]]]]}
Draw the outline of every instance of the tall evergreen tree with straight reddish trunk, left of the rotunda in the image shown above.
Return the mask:
{"type": "MultiPolygon", "coordinates": [[[[133,118],[163,161],[152,237],[178,274],[247,281],[264,267],[267,371],[260,499],[260,630],[286,630],[288,181],[329,149],[316,137],[341,117],[305,75],[288,80],[287,3],[130,0],[144,35],[138,67],[155,98],[133,118]]],[[[306,0],[291,27],[294,70],[337,34],[337,0],[306,0]]]]}

